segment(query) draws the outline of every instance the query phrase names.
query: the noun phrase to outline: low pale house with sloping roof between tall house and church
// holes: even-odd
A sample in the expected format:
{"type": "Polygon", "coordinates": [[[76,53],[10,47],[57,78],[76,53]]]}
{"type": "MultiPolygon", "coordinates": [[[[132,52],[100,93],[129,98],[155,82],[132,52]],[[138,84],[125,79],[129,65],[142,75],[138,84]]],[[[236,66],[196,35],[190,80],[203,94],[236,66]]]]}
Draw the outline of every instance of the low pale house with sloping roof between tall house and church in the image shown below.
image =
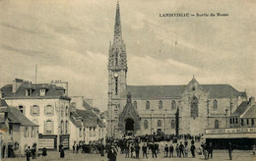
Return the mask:
{"type": "Polygon", "coordinates": [[[83,96],[72,97],[70,113],[70,147],[74,143],[86,144],[105,141],[105,126],[99,117],[98,109],[87,103],[83,96]],[[74,98],[74,99],[73,99],[74,98]]]}

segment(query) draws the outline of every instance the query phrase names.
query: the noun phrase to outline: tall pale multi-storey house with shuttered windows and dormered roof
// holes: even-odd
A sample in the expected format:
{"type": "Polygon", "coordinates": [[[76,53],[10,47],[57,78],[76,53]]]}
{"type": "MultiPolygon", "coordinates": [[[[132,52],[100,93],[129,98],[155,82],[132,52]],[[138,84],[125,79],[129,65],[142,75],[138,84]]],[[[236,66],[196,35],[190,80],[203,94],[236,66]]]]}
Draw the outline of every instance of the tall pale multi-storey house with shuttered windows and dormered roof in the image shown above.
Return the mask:
{"type": "Polygon", "coordinates": [[[21,111],[39,125],[38,148],[57,149],[69,146],[69,103],[66,89],[51,83],[32,83],[16,79],[2,88],[9,106],[21,111]]]}

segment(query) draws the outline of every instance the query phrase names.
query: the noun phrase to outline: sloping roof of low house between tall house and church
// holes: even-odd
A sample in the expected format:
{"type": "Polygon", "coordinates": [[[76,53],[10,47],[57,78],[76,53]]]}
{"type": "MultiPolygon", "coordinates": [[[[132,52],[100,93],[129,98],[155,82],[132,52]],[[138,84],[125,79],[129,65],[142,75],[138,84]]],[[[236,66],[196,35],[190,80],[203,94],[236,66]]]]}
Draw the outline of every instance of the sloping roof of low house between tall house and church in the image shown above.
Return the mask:
{"type": "Polygon", "coordinates": [[[103,122],[99,117],[96,116],[96,113],[93,110],[76,110],[78,116],[83,118],[86,127],[96,127],[97,125],[100,128],[104,127],[103,122]]]}

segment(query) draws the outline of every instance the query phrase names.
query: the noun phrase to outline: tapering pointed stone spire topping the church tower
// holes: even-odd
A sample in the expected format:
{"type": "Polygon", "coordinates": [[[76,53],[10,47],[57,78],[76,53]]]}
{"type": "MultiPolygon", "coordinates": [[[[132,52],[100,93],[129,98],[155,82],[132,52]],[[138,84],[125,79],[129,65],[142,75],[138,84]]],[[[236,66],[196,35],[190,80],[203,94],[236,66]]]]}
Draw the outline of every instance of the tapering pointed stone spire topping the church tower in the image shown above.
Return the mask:
{"type": "Polygon", "coordinates": [[[116,44],[120,41],[122,41],[122,29],[121,29],[119,2],[117,2],[117,4],[116,4],[116,13],[115,13],[114,41],[113,41],[113,43],[116,44]]]}

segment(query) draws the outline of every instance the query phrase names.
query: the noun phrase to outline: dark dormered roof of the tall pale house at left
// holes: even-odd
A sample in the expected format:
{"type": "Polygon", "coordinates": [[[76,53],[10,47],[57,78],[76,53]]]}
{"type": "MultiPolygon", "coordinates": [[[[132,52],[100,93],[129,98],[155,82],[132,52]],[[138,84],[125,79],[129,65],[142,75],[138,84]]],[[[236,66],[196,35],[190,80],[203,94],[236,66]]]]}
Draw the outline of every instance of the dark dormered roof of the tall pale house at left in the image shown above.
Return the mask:
{"type": "Polygon", "coordinates": [[[13,93],[13,85],[7,84],[4,85],[2,88],[3,91],[3,97],[6,99],[12,99],[12,98],[21,98],[21,99],[49,99],[49,98],[60,98],[60,99],[67,99],[70,100],[68,96],[64,95],[64,88],[61,86],[56,86],[54,84],[48,84],[48,83],[24,83],[21,84],[21,86],[17,89],[15,93],[13,93]],[[32,89],[32,95],[26,96],[26,89],[31,88],[32,89]],[[45,96],[40,96],[40,89],[46,89],[45,96]]]}

